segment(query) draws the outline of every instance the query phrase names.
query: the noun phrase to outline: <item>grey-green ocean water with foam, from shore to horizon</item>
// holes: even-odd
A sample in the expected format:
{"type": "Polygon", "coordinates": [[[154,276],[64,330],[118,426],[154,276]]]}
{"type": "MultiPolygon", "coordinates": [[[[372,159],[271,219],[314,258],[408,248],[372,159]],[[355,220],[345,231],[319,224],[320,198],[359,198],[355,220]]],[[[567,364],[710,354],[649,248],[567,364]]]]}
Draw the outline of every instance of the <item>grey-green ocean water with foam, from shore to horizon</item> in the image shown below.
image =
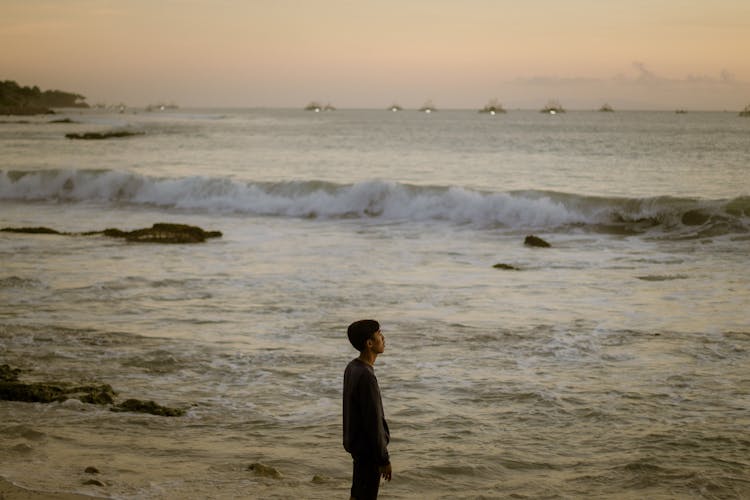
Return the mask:
{"type": "Polygon", "coordinates": [[[0,228],[223,235],[0,232],[0,364],[186,410],[0,401],[0,476],[347,498],[346,327],[374,318],[381,498],[750,498],[749,134],[726,112],[0,119],[0,228]],[[65,137],[111,131],[135,135],[65,137]]]}

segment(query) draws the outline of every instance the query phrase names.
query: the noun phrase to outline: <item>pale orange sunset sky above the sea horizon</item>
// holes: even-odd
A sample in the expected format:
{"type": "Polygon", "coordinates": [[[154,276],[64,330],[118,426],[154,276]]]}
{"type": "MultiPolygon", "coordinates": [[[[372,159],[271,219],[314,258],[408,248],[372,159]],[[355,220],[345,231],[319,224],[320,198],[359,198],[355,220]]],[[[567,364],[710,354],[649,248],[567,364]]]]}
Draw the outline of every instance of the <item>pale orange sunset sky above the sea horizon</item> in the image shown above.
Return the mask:
{"type": "Polygon", "coordinates": [[[739,110],[748,0],[0,0],[0,80],[89,104],[739,110]]]}

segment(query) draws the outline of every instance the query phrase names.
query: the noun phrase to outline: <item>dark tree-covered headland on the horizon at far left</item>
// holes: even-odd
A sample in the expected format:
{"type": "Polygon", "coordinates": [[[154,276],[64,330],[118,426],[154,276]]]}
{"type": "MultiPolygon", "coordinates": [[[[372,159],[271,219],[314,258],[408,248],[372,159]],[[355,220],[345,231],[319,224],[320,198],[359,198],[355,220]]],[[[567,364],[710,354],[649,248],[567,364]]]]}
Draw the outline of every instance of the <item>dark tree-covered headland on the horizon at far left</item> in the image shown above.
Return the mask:
{"type": "Polygon", "coordinates": [[[88,108],[85,97],[62,90],[21,87],[12,80],[0,81],[0,115],[42,115],[52,108],[88,108]]]}

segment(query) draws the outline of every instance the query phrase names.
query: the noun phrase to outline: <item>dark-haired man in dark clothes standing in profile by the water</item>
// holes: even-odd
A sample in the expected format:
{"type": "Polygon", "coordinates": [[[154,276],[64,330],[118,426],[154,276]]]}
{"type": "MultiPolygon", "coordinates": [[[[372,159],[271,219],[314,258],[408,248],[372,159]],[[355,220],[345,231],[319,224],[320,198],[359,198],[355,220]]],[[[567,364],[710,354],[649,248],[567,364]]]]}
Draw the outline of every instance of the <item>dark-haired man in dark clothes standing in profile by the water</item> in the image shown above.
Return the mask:
{"type": "Polygon", "coordinates": [[[390,433],[373,369],[385,337],[372,319],[355,321],[346,333],[359,351],[344,371],[344,449],[354,459],[351,498],[371,500],[378,497],[380,478],[391,480],[390,433]]]}

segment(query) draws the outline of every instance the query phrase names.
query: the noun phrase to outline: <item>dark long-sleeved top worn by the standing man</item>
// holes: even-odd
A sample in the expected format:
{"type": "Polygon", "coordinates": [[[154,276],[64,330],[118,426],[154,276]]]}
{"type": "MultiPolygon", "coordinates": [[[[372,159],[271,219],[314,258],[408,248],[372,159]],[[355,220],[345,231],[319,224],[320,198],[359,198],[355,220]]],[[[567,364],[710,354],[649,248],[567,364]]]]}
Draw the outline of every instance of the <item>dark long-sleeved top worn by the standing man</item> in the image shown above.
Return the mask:
{"type": "Polygon", "coordinates": [[[387,465],[390,439],[375,370],[355,358],[344,371],[344,449],[357,460],[387,465]]]}

